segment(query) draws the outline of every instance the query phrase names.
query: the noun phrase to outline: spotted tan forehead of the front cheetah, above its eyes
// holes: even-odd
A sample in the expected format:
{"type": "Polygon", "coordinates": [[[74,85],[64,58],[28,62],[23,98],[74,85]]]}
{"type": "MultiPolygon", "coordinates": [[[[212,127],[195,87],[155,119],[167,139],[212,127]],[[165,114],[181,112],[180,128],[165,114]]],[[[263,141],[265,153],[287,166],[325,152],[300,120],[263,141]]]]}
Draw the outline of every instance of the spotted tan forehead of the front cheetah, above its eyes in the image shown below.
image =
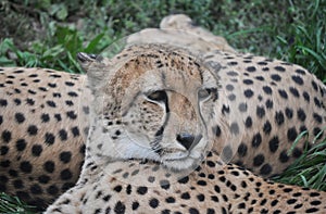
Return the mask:
{"type": "Polygon", "coordinates": [[[131,85],[136,91],[137,86],[145,85],[152,90],[181,86],[193,89],[203,84],[216,86],[215,77],[201,60],[180,48],[153,43],[131,46],[106,62],[96,60],[86,68],[90,85],[103,85],[104,93],[125,95],[131,85]],[[92,78],[93,74],[99,77],[99,73],[101,78],[92,78]]]}

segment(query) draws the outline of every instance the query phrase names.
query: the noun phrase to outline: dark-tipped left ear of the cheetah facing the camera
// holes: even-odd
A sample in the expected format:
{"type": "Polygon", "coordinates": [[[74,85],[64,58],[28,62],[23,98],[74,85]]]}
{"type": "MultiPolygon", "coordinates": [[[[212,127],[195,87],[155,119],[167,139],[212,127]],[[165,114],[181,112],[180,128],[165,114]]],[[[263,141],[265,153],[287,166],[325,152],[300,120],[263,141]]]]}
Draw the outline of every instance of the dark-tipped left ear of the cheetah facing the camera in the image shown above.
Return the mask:
{"type": "Polygon", "coordinates": [[[77,53],[77,59],[87,74],[90,89],[97,93],[110,76],[112,67],[110,59],[84,52],[77,53]]]}

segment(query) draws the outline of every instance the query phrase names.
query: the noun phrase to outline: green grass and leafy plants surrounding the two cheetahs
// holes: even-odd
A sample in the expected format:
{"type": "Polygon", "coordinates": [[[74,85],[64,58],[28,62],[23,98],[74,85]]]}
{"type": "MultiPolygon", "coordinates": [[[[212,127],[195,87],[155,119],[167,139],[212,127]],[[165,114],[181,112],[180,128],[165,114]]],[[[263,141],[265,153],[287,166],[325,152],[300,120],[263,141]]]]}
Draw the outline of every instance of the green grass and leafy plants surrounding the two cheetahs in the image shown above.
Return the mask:
{"type": "MultiPolygon", "coordinates": [[[[80,73],[77,52],[102,52],[172,13],[189,15],[239,51],[300,64],[326,83],[326,0],[2,0],[0,66],[80,73]]],[[[313,148],[275,179],[326,190],[325,160],[325,150],[313,148]]],[[[0,194],[0,213],[26,210],[0,194]]]]}

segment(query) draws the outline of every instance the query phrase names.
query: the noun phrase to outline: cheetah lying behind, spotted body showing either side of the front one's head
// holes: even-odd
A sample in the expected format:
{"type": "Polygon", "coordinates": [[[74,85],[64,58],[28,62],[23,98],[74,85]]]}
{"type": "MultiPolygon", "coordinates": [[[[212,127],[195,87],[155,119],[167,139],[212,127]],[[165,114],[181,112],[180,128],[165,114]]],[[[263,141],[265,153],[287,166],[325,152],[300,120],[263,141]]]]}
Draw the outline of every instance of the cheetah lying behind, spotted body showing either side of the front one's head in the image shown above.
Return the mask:
{"type": "MultiPolygon", "coordinates": [[[[159,29],[156,32],[160,33],[159,29]]],[[[161,33],[162,36],[173,35],[167,38],[176,36],[168,30],[161,33]]],[[[211,50],[196,46],[198,36],[187,32],[184,34],[187,37],[181,41],[193,43],[195,51],[211,50]]],[[[174,45],[180,39],[166,40],[162,37],[162,40],[174,45]]],[[[212,43],[211,47],[215,46],[212,43]]],[[[217,148],[223,151],[224,161],[233,156],[233,163],[250,167],[264,177],[281,173],[301,154],[303,144],[299,143],[293,154],[287,155],[294,136],[308,128],[312,130],[311,140],[325,127],[324,86],[297,65],[228,52],[234,53],[213,51],[204,58],[206,66],[218,70],[222,79],[220,115],[225,122],[213,126],[217,141],[215,146],[221,142],[225,146],[217,148]],[[286,72],[278,71],[281,67],[286,72]],[[291,80],[291,87],[288,79],[299,79],[299,84],[291,80]],[[300,85],[300,79],[304,79],[303,85],[300,85]],[[244,96],[251,93],[254,95],[249,98],[244,96]],[[246,123],[233,123],[228,112],[240,114],[239,118],[246,123]],[[228,136],[230,129],[233,134],[228,136]],[[230,139],[235,142],[227,146],[230,139]]],[[[78,166],[84,160],[84,129],[89,124],[86,116],[91,99],[87,89],[80,92],[84,80],[84,75],[48,70],[2,68],[0,191],[45,207],[76,182],[80,173],[78,166]]]]}

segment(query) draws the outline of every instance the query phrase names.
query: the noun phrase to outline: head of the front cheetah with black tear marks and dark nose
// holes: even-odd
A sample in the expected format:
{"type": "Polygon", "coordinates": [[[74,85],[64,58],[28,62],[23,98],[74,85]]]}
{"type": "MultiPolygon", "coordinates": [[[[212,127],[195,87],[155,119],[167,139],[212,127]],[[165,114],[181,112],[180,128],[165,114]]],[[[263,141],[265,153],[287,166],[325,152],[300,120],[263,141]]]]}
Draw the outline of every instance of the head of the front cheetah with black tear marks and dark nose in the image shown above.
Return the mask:
{"type": "Polygon", "coordinates": [[[217,80],[183,52],[135,49],[141,54],[131,49],[112,60],[79,54],[96,97],[88,148],[98,158],[147,159],[189,169],[213,141],[206,127],[214,117],[217,80]]]}

